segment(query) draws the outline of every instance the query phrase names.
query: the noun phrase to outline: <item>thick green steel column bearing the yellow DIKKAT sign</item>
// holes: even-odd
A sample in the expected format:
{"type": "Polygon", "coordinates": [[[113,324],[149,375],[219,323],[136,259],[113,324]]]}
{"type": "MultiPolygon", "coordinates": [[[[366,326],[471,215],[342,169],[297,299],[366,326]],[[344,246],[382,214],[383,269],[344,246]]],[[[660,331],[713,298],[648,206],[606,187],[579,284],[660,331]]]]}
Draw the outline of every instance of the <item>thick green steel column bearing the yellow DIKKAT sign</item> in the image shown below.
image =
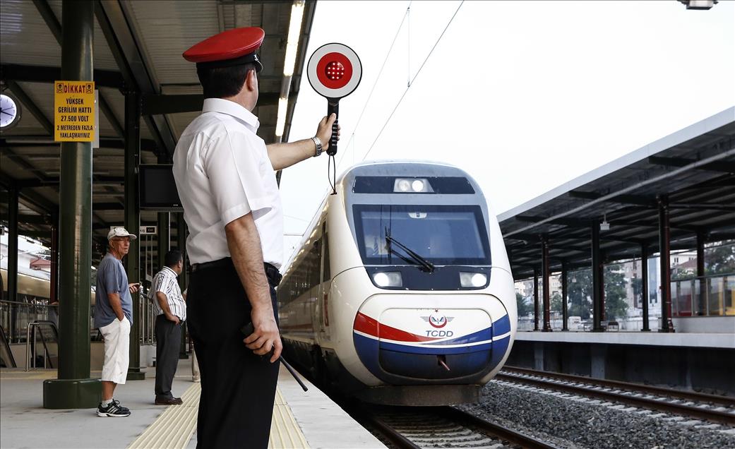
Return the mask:
{"type": "MultiPolygon", "coordinates": [[[[91,80],[94,3],[64,0],[61,8],[61,78],[91,80]]],[[[88,409],[101,397],[99,379],[90,378],[91,142],[61,144],[59,211],[59,371],[43,382],[43,406],[88,409]]]]}

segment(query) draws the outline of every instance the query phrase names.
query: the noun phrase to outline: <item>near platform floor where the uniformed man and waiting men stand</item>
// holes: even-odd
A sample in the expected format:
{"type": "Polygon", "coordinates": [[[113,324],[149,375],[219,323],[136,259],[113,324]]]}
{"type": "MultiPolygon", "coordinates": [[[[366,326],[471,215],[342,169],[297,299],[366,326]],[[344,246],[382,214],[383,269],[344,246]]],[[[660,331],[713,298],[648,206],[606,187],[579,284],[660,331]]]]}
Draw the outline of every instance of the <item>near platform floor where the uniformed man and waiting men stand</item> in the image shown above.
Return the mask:
{"type": "MultiPolygon", "coordinates": [[[[173,394],[180,406],[154,405],[155,368],[146,380],[118,386],[115,398],[129,417],[101,418],[95,409],[43,408],[43,381],[55,370],[0,370],[1,448],[195,448],[200,384],[191,381],[190,360],[179,360],[173,394]]],[[[92,373],[99,377],[100,372],[92,373]]],[[[272,449],[384,448],[323,392],[304,379],[304,392],[282,367],[270,428],[272,449]]]]}

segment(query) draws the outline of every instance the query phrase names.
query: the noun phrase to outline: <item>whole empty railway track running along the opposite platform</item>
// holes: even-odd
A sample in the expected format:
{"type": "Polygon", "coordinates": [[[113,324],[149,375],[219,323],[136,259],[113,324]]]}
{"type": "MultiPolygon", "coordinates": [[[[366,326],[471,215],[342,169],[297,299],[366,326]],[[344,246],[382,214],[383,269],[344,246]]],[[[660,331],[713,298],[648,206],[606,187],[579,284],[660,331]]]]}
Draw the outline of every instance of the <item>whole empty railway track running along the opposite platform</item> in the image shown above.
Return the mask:
{"type": "Polygon", "coordinates": [[[735,425],[735,401],[720,396],[514,367],[503,368],[495,379],[735,425]]]}

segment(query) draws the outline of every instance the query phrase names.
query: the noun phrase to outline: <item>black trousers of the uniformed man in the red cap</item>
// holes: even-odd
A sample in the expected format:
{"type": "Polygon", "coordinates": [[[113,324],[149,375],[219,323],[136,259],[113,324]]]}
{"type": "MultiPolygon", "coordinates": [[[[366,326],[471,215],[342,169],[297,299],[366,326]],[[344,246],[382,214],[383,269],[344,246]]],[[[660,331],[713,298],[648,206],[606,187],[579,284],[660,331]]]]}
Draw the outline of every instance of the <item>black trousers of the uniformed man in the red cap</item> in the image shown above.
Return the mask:
{"type": "MultiPolygon", "coordinates": [[[[270,298],[277,320],[272,283],[270,298]]],[[[240,328],[251,322],[250,312],[234,266],[191,273],[187,326],[201,372],[198,449],[268,448],[279,362],[245,348],[240,328]]]]}

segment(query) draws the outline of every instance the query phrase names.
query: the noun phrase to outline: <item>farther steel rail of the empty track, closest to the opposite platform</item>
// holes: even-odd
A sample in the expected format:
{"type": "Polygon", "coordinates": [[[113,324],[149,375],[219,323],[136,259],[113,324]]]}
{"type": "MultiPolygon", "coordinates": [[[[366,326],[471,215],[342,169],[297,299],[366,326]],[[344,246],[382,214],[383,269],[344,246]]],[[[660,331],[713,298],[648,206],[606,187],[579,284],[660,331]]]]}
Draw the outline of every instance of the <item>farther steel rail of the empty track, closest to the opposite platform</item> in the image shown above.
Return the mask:
{"type": "Polygon", "coordinates": [[[664,387],[654,387],[652,385],[633,384],[631,382],[611,381],[608,379],[595,379],[595,378],[589,378],[589,377],[584,377],[584,376],[574,376],[573,374],[551,373],[549,371],[530,370],[528,368],[520,368],[520,367],[509,367],[508,365],[503,367],[503,371],[508,371],[509,373],[528,374],[529,376],[543,376],[543,377],[558,378],[564,381],[579,382],[580,384],[603,385],[605,387],[627,389],[627,390],[637,391],[637,392],[642,392],[642,393],[667,395],[672,398],[698,400],[700,402],[711,402],[711,403],[717,403],[723,406],[735,408],[735,398],[726,398],[724,396],[707,395],[705,393],[687,392],[687,391],[682,391],[678,389],[671,389],[671,388],[664,388],[664,387]]]}

